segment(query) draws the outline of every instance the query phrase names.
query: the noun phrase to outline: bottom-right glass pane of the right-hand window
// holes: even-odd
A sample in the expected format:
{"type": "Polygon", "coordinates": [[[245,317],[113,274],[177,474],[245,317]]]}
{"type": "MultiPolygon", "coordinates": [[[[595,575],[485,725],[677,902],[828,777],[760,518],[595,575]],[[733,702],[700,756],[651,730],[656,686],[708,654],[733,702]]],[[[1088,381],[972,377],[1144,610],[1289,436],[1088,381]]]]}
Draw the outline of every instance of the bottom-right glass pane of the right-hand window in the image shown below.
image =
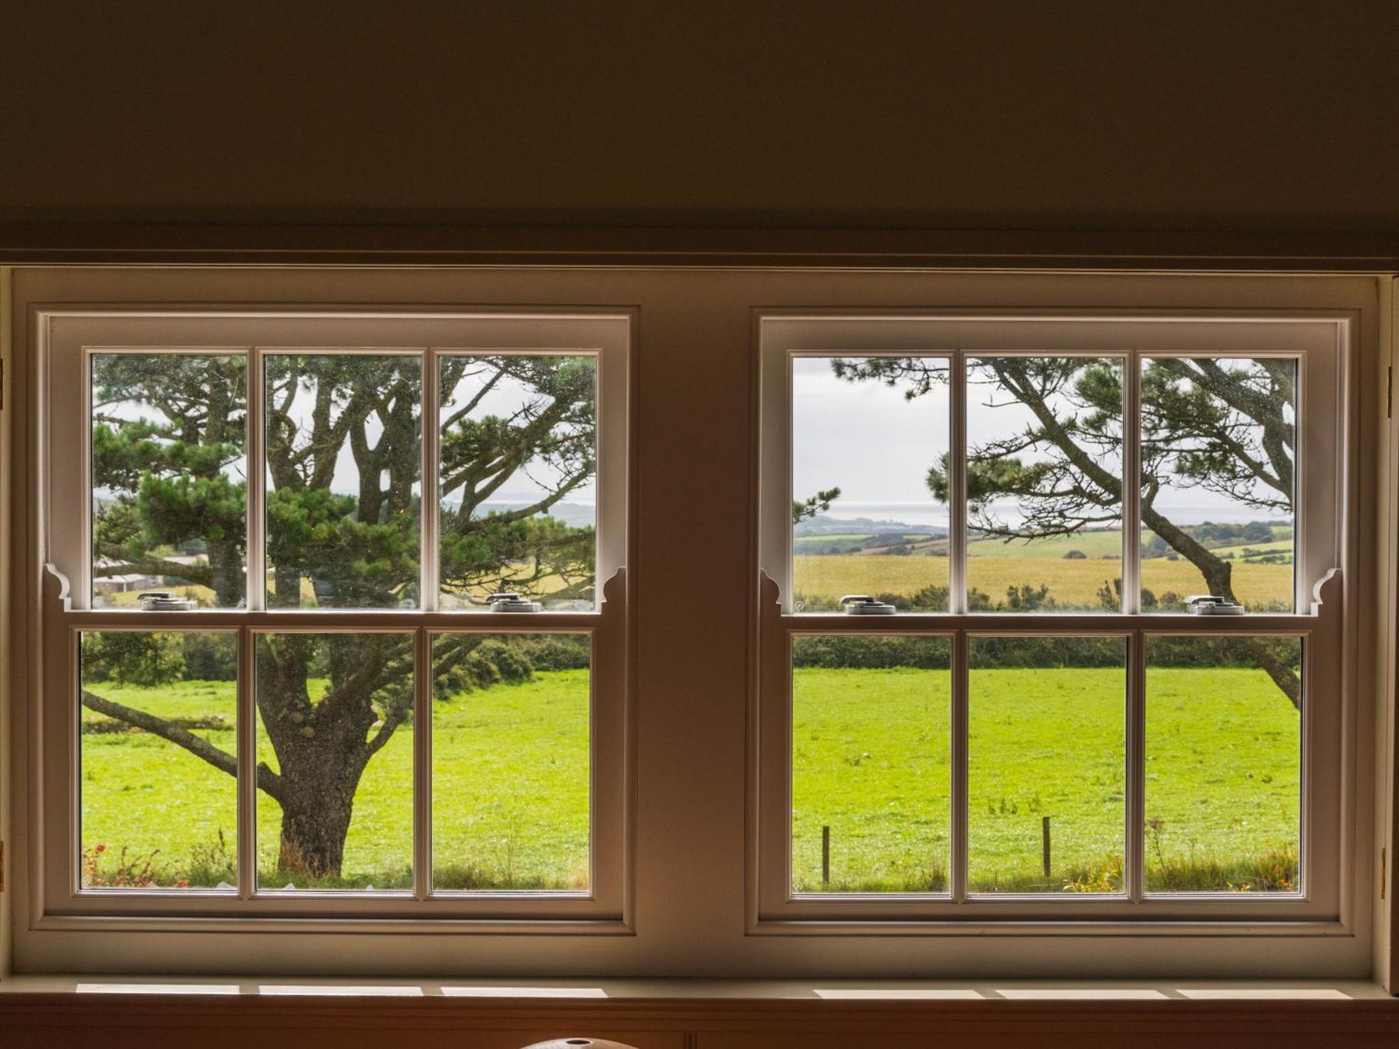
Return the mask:
{"type": "Polygon", "coordinates": [[[1147,638],[1146,888],[1297,892],[1300,638],[1147,638]]]}

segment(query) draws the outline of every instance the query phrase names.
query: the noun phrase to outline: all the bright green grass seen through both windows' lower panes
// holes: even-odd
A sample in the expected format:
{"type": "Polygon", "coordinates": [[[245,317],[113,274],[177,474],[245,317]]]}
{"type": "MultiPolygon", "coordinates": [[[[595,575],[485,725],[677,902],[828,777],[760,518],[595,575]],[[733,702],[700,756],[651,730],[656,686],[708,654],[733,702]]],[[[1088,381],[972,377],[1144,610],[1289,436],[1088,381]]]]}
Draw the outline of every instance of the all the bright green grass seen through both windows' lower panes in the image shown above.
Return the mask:
{"type": "MultiPolygon", "coordinates": [[[[94,688],[206,726],[192,730],[232,750],[232,683],[94,688]]],[[[1293,884],[1297,712],[1251,670],[1149,670],[1147,690],[1149,885],[1293,884]],[[1270,881],[1260,873],[1267,857],[1284,869],[1270,881]]],[[[975,890],[1121,885],[1122,706],[1122,671],[972,671],[975,890]],[[1044,815],[1053,838],[1049,883],[1041,871],[1044,815]]],[[[944,891],[947,671],[800,669],[793,719],[793,885],[944,891]],[[825,885],[823,827],[831,828],[825,885]]],[[[84,725],[83,843],[97,881],[232,883],[232,778],[154,736],[113,732],[119,726],[99,715],[84,711],[84,725]]],[[[434,733],[436,884],[586,887],[588,673],[537,673],[523,684],[459,694],[434,705],[434,733]]],[[[264,748],[260,741],[266,757],[264,748]]],[[[411,755],[411,736],[400,732],[371,761],[337,884],[410,884],[411,755]]],[[[259,869],[277,887],[287,881],[274,871],[278,811],[259,799],[259,869]]]]}

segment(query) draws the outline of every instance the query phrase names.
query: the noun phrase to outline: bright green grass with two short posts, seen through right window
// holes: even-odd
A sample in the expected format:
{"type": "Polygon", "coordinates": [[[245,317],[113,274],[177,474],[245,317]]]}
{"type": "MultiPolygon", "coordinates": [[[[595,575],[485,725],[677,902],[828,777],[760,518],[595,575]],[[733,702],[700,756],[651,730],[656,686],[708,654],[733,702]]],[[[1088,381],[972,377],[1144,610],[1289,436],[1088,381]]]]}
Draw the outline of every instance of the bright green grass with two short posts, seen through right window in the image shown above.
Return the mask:
{"type": "MultiPolygon", "coordinates": [[[[797,891],[947,890],[949,677],[796,671],[797,891]]],[[[1121,891],[1123,671],[972,670],[970,687],[971,890],[1121,891]]],[[[1149,669],[1149,888],[1291,888],[1281,883],[1295,881],[1300,738],[1297,711],[1260,671],[1149,669]],[[1267,866],[1279,857],[1281,874],[1267,866]]]]}

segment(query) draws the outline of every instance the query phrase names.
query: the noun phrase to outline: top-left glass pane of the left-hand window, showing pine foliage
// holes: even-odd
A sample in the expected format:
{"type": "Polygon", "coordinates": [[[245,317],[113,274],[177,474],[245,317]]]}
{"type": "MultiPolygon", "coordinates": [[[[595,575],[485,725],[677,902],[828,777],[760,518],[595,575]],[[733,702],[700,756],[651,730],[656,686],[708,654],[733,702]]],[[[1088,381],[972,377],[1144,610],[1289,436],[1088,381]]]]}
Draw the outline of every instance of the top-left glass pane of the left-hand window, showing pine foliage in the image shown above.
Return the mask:
{"type": "Polygon", "coordinates": [[[92,607],[243,603],[245,376],[236,355],[92,355],[92,607]]]}

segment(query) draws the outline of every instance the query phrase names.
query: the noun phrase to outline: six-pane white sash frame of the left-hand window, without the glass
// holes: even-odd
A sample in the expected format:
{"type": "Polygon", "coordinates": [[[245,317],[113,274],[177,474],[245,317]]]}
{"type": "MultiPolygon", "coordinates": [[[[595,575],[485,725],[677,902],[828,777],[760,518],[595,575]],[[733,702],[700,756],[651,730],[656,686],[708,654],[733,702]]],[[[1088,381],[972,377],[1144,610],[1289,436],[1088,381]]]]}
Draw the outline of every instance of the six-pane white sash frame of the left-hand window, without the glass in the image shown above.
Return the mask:
{"type": "Polygon", "coordinates": [[[41,629],[43,754],[32,853],[31,913],[41,929],[306,930],[347,927],[501,933],[617,932],[631,920],[627,580],[630,371],[635,317],[625,311],[379,309],[41,309],[42,389],[38,508],[46,568],[41,629]],[[143,613],[91,607],[91,358],[113,352],[242,355],[248,368],[246,608],[143,613]],[[264,564],[264,471],[260,462],[263,359],[270,354],[403,354],[422,361],[421,607],[417,610],[269,610],[264,564]],[[597,368],[597,594],[592,611],[536,614],[438,610],[438,375],[443,357],[588,354],[597,368]],[[256,393],[255,393],[256,392],[256,393]],[[78,638],[94,629],[228,629],[238,634],[239,887],[83,890],[78,884],[78,638]],[[416,638],[414,885],[411,892],[278,891],[256,885],[255,708],[252,641],[257,634],[403,632],[416,638]],[[431,643],[443,634],[592,635],[589,725],[590,878],[585,891],[434,891],[431,885],[431,643]],[[154,926],[152,926],[154,922],[154,926]]]}

